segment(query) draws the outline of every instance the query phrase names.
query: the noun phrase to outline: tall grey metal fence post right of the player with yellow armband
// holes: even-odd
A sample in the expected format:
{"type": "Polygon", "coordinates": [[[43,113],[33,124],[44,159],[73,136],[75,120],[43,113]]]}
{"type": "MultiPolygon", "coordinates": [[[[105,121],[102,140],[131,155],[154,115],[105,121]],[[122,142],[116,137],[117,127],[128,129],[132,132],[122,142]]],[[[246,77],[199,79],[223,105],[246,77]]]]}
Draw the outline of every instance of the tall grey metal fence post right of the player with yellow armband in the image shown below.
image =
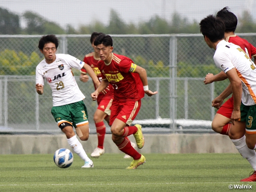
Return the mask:
{"type": "Polygon", "coordinates": [[[176,56],[177,56],[177,38],[176,36],[171,36],[170,38],[170,119],[172,124],[170,128],[172,132],[176,130],[176,56]]]}

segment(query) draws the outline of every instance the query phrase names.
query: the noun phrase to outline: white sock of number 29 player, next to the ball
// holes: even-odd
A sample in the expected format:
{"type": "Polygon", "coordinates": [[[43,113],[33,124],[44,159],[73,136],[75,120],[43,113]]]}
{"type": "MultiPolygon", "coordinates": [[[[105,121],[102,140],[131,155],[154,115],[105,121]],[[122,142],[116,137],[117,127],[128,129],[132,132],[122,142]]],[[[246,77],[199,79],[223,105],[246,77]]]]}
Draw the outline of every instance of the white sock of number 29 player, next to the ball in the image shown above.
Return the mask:
{"type": "Polygon", "coordinates": [[[82,144],[78,141],[76,136],[73,136],[72,138],[69,138],[67,140],[70,147],[74,150],[76,154],[78,154],[78,156],[80,156],[82,160],[90,161],[90,158],[88,158],[88,156],[86,155],[82,144]]]}

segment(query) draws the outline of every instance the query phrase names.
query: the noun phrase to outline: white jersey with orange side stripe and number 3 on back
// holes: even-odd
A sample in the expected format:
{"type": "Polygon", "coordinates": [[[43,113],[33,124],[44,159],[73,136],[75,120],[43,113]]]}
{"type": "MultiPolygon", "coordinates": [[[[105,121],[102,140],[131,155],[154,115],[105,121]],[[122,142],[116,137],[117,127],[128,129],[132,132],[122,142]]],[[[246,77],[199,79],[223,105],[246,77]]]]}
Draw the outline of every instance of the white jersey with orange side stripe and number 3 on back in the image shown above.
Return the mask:
{"type": "Polygon", "coordinates": [[[222,40],[217,44],[213,59],[216,66],[225,73],[236,68],[242,81],[242,103],[246,106],[255,105],[256,66],[240,46],[222,40]]]}

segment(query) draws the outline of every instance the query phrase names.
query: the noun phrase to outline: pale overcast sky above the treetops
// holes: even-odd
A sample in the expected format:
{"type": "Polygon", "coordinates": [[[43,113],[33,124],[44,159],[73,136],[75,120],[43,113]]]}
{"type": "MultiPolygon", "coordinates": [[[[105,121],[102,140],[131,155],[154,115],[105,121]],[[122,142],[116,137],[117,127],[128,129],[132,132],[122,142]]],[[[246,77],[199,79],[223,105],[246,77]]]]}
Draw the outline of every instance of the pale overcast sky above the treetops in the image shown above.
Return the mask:
{"type": "Polygon", "coordinates": [[[0,0],[0,7],[16,14],[30,10],[63,28],[71,24],[76,29],[95,20],[107,25],[111,9],[126,23],[138,24],[154,15],[170,21],[174,12],[199,22],[225,6],[238,17],[248,10],[256,18],[256,0],[0,0]]]}

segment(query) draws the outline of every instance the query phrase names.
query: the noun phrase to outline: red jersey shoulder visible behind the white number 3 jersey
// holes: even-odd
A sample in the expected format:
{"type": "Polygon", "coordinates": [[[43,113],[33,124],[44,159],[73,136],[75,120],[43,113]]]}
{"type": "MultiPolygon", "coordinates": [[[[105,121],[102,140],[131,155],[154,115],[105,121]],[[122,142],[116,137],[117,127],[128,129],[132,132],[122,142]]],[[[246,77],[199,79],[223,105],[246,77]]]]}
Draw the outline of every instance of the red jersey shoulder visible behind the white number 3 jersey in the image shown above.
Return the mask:
{"type": "Polygon", "coordinates": [[[256,56],[256,47],[250,44],[247,40],[240,38],[237,35],[232,35],[232,36],[228,36],[226,38],[226,41],[240,46],[242,50],[244,50],[250,58],[256,56]]]}

